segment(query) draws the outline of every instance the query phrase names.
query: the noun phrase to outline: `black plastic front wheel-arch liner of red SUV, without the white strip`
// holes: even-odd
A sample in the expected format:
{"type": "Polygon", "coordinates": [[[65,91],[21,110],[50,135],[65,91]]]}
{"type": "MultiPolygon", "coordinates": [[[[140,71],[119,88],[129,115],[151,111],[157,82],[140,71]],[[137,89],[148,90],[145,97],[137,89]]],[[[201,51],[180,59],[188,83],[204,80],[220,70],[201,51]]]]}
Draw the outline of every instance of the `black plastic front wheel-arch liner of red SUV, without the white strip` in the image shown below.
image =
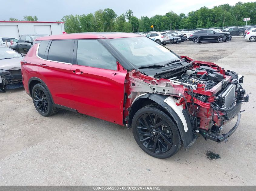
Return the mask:
{"type": "Polygon", "coordinates": [[[188,131],[185,132],[183,123],[178,116],[178,114],[167,104],[164,102],[164,100],[168,97],[168,95],[162,95],[162,94],[145,94],[144,96],[141,96],[139,99],[143,98],[149,98],[152,101],[158,103],[160,106],[162,106],[175,120],[180,135],[181,135],[181,140],[183,141],[184,147],[190,147],[194,142],[193,142],[193,132],[192,132],[192,126],[190,123],[190,118],[187,110],[182,110],[183,115],[185,116],[187,126],[188,126],[188,131]]]}

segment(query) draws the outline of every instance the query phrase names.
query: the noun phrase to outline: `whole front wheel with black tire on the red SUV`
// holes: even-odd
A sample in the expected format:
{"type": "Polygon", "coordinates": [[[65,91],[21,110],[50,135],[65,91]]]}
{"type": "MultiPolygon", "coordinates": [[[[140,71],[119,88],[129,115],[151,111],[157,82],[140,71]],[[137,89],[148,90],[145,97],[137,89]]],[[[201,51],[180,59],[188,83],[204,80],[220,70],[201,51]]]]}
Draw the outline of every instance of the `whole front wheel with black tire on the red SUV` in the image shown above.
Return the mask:
{"type": "Polygon", "coordinates": [[[138,110],[131,127],[139,147],[153,157],[169,158],[181,148],[181,136],[176,123],[158,104],[138,110]]]}

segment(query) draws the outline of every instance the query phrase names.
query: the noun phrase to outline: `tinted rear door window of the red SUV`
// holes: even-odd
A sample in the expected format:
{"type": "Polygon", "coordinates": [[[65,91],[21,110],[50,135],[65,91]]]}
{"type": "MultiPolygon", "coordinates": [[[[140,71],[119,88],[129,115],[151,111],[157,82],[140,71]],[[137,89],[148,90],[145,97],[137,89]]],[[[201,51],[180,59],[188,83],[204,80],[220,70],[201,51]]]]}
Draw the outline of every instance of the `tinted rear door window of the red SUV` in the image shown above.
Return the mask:
{"type": "Polygon", "coordinates": [[[72,44],[72,40],[53,40],[48,51],[48,60],[71,63],[70,50],[72,44]]]}

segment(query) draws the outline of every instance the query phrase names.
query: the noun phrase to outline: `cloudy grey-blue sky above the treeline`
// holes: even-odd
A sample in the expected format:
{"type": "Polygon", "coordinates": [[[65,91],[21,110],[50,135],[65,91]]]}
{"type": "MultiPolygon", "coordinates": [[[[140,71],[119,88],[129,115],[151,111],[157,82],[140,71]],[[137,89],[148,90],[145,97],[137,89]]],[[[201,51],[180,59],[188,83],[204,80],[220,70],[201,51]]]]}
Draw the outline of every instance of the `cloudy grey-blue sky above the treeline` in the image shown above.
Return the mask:
{"type": "Polygon", "coordinates": [[[156,15],[165,15],[169,11],[177,14],[196,11],[203,6],[213,8],[228,3],[235,5],[240,2],[252,2],[246,0],[2,0],[0,21],[8,21],[9,18],[22,20],[25,15],[36,15],[38,21],[60,21],[69,14],[94,13],[99,9],[111,8],[116,14],[125,13],[131,9],[133,15],[140,18],[156,15]],[[14,6],[15,5],[15,6],[14,6]]]}

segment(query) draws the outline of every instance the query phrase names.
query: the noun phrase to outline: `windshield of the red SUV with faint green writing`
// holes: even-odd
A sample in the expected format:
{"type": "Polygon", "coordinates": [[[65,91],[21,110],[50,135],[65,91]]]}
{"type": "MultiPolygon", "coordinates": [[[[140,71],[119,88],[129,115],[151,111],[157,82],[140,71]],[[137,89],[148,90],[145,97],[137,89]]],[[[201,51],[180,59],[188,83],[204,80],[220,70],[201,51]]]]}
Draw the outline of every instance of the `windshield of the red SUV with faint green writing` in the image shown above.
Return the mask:
{"type": "Polygon", "coordinates": [[[107,39],[136,69],[145,65],[164,65],[179,59],[169,49],[147,37],[107,39]]]}

